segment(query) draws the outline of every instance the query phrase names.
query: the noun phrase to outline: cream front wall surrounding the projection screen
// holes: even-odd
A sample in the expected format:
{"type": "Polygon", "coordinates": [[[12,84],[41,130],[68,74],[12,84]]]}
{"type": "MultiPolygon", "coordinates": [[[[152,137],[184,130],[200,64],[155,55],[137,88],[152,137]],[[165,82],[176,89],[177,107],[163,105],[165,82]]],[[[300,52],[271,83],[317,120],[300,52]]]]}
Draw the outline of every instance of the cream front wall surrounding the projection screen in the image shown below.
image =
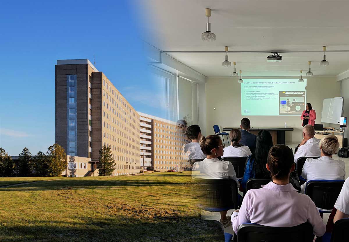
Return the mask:
{"type": "MultiPolygon", "coordinates": [[[[299,77],[253,77],[253,79],[299,78],[299,77]]],[[[303,77],[305,78],[305,77],[303,77]]],[[[317,113],[316,123],[321,123],[324,98],[340,97],[340,82],[335,77],[306,77],[307,102],[317,113]]],[[[248,78],[243,78],[248,79],[248,78]]],[[[241,88],[233,77],[209,77],[206,82],[207,135],[214,134],[213,125],[218,124],[223,131],[227,126],[240,126],[241,88]],[[216,108],[214,110],[214,108],[216,108]]],[[[344,95],[344,94],[343,94],[344,95]]],[[[299,116],[244,116],[251,120],[251,126],[281,126],[287,122],[294,131],[286,131],[286,142],[299,142],[302,138],[302,121],[299,116]]]]}

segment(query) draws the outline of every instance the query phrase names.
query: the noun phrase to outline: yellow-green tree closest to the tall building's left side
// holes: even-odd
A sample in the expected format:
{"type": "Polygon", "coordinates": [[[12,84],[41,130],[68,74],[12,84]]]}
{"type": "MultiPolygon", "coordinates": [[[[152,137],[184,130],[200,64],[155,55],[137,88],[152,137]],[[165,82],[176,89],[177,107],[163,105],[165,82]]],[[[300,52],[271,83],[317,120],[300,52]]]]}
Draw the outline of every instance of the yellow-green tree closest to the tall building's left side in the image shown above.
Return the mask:
{"type": "Polygon", "coordinates": [[[63,147],[59,144],[53,144],[46,152],[49,158],[49,170],[47,172],[50,177],[59,177],[67,167],[67,155],[63,147]]]}

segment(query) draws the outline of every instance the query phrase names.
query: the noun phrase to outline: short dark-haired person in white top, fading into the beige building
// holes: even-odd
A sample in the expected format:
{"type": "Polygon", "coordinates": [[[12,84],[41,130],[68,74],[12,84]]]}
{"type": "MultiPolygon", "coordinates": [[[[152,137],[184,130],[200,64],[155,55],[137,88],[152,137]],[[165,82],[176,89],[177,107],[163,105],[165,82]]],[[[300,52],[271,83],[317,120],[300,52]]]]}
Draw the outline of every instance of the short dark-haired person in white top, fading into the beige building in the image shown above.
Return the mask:
{"type": "Polygon", "coordinates": [[[191,165],[197,161],[202,161],[206,158],[200,147],[201,129],[199,125],[194,124],[187,128],[185,134],[191,142],[183,145],[183,154],[188,159],[191,165]]]}

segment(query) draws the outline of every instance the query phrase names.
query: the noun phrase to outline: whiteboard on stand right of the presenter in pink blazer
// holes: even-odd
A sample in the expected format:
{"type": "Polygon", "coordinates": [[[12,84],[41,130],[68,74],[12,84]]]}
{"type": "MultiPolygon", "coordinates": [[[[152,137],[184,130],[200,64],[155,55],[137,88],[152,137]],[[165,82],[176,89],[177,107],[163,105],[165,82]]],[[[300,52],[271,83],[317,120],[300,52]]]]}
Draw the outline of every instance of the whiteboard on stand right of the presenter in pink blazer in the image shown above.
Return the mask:
{"type": "Polygon", "coordinates": [[[324,99],[321,122],[338,124],[340,116],[342,116],[343,101],[343,97],[324,99]]]}

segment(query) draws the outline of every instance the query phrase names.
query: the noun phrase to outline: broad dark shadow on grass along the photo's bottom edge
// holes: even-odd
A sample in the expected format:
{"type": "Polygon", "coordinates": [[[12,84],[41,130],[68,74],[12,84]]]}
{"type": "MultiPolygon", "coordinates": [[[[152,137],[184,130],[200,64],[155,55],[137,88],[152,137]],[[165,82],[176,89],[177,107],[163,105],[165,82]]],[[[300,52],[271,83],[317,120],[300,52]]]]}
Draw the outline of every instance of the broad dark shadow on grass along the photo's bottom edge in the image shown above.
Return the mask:
{"type": "Polygon", "coordinates": [[[68,221],[0,222],[0,241],[224,241],[220,223],[197,217],[145,221],[129,217],[77,217],[68,221]]]}

